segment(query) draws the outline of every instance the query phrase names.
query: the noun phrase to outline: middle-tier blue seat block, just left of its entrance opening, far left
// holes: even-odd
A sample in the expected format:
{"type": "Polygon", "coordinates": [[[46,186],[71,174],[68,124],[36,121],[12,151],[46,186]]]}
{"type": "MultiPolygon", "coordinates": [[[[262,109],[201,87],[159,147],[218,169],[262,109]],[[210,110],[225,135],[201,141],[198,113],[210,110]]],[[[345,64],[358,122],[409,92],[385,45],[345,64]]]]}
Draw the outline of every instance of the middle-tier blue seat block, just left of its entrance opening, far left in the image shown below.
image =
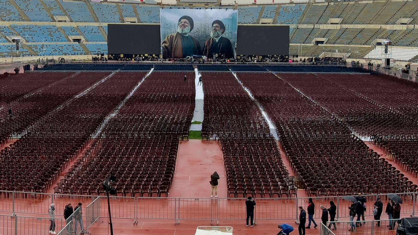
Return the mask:
{"type": "Polygon", "coordinates": [[[12,25],[12,27],[27,42],[68,42],[56,26],[12,25]]]}

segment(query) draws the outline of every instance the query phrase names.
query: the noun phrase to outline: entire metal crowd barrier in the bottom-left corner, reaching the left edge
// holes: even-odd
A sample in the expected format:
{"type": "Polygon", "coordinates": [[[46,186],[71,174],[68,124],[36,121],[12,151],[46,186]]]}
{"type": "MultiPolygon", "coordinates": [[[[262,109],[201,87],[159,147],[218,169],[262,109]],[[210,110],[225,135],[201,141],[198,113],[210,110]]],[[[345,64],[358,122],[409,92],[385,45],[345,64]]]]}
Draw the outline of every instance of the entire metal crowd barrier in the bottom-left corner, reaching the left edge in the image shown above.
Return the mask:
{"type": "Polygon", "coordinates": [[[51,220],[55,221],[55,232],[63,227],[61,218],[0,215],[0,234],[48,235],[51,220]]]}

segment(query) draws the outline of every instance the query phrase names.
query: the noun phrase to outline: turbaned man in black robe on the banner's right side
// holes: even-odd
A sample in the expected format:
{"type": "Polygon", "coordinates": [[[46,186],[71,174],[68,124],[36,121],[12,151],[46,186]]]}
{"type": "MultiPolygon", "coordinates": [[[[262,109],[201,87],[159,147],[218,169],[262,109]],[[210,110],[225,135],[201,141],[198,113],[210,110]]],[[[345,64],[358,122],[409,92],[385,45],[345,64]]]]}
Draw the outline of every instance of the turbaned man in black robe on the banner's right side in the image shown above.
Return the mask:
{"type": "Polygon", "coordinates": [[[221,20],[212,22],[210,38],[206,40],[203,47],[203,55],[212,58],[214,54],[225,55],[225,59],[234,58],[234,49],[228,38],[222,37],[225,33],[225,25],[221,20]]]}

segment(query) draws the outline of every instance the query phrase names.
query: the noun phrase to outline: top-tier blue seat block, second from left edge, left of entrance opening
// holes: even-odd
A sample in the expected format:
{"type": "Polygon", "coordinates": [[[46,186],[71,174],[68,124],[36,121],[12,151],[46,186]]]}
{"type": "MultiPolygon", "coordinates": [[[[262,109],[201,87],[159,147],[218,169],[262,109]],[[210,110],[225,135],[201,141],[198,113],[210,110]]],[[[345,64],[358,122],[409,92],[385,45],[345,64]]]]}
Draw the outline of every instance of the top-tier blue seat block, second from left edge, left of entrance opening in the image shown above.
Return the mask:
{"type": "Polygon", "coordinates": [[[39,0],[15,0],[15,3],[31,19],[31,21],[50,22],[52,21],[39,0]]]}

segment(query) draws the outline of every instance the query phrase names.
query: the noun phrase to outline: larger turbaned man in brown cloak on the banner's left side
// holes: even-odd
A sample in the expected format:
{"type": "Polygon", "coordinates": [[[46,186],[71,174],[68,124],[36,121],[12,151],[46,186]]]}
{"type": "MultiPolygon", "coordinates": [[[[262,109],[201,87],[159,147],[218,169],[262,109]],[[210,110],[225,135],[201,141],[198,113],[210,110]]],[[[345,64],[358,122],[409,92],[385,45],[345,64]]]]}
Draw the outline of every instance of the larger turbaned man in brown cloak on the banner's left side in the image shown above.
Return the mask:
{"type": "Polygon", "coordinates": [[[202,54],[199,41],[189,35],[193,27],[194,22],[190,16],[183,15],[178,19],[177,32],[168,35],[163,43],[161,43],[163,59],[183,59],[187,56],[202,54]]]}

